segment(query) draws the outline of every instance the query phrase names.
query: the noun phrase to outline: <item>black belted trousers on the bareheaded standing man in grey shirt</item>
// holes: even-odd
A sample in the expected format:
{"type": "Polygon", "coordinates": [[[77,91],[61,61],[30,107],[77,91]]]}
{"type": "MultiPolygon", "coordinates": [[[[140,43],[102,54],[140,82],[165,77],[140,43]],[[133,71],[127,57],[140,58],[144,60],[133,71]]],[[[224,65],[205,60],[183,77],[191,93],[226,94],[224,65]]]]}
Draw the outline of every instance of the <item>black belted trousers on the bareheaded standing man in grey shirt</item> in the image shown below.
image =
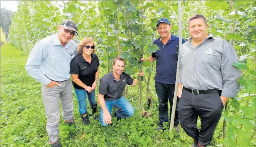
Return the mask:
{"type": "Polygon", "coordinates": [[[206,146],[212,140],[223,108],[218,92],[195,95],[183,89],[178,104],[181,127],[188,136],[206,146]],[[201,118],[200,130],[196,127],[198,116],[201,118]]]}

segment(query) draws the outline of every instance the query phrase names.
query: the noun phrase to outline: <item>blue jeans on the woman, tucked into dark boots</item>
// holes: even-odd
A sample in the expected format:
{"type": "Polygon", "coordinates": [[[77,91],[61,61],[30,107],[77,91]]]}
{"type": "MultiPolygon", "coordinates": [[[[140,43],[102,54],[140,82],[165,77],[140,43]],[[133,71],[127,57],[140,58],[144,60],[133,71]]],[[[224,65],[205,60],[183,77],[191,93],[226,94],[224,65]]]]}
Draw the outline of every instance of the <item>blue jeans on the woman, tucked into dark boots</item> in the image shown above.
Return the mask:
{"type": "Polygon", "coordinates": [[[90,93],[87,93],[87,91],[85,91],[85,89],[75,89],[75,94],[76,94],[76,98],[78,100],[79,103],[79,113],[80,114],[84,114],[86,112],[86,94],[88,96],[90,105],[95,105],[96,101],[95,101],[95,89],[92,90],[90,93]]]}

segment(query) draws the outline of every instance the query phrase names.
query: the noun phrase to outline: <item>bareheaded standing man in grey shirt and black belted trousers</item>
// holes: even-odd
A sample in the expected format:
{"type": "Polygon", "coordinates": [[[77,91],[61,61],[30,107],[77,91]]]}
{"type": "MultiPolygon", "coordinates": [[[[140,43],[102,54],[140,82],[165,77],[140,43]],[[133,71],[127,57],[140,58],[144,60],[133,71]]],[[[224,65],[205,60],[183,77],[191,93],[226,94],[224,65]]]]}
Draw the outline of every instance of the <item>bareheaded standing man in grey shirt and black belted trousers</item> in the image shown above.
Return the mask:
{"type": "Polygon", "coordinates": [[[232,66],[238,62],[236,50],[228,41],[207,34],[207,27],[205,16],[192,16],[188,24],[191,38],[179,50],[178,111],[182,128],[194,140],[191,147],[206,147],[211,142],[225,103],[240,89],[241,71],[232,66]]]}

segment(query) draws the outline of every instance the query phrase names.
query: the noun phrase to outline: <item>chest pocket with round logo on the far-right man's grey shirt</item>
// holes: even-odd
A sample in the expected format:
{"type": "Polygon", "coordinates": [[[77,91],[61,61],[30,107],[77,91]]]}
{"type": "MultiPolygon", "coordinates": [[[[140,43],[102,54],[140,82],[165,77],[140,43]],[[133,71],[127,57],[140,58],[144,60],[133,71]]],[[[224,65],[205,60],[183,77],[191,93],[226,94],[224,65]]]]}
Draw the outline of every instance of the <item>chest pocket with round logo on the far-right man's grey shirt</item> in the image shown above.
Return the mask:
{"type": "Polygon", "coordinates": [[[202,69],[210,69],[214,64],[216,64],[216,59],[217,57],[212,54],[199,54],[196,66],[202,69]]]}

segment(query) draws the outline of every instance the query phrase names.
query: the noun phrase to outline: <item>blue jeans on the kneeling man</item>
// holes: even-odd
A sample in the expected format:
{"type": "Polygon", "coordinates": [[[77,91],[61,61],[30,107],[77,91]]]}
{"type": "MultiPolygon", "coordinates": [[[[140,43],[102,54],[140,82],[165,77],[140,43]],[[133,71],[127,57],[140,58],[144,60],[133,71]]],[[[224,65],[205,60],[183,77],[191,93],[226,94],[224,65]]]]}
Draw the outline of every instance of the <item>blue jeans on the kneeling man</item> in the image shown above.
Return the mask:
{"type": "MultiPolygon", "coordinates": [[[[124,96],[121,96],[120,98],[114,100],[105,101],[105,105],[110,115],[113,106],[115,108],[118,108],[118,110],[116,111],[117,118],[129,118],[134,113],[134,108],[124,96]]],[[[100,108],[100,124],[104,127],[108,126],[108,124],[104,122],[102,108],[100,108]]]]}

